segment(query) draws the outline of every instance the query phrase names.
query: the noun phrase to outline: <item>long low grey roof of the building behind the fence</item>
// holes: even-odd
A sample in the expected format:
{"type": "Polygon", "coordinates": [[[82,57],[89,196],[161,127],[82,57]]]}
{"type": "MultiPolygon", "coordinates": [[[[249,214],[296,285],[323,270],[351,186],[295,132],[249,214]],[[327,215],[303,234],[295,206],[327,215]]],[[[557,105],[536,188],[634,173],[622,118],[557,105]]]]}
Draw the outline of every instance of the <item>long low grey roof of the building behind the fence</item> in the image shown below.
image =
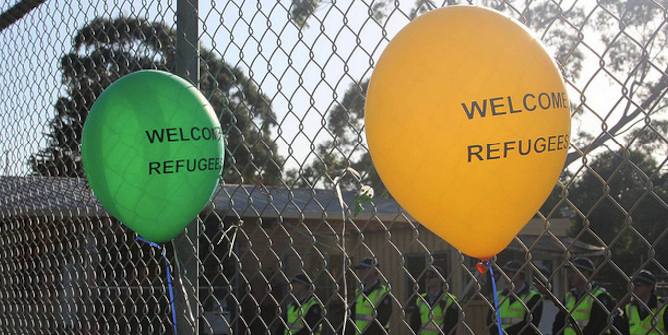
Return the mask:
{"type": "MultiPolygon", "coordinates": [[[[356,192],[342,191],[344,204],[354,210],[356,192]]],[[[341,218],[333,189],[287,189],[257,185],[219,185],[211,202],[218,213],[244,218],[341,218]]],[[[401,220],[410,217],[391,199],[375,198],[356,217],[401,220]]],[[[344,206],[345,208],[346,206],[344,206]]],[[[108,216],[81,178],[0,177],[0,217],[55,215],[108,216]]]]}

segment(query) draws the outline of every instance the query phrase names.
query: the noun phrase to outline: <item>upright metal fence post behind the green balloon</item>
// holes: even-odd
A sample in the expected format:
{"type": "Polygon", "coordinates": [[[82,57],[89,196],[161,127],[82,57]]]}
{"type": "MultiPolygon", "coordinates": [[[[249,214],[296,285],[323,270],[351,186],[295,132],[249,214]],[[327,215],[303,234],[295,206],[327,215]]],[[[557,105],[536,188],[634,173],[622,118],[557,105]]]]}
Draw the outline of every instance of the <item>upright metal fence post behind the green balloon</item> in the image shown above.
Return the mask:
{"type": "MultiPolygon", "coordinates": [[[[176,4],[176,74],[199,88],[198,0],[178,0],[176,4]]],[[[199,220],[174,239],[178,269],[177,330],[179,335],[198,334],[199,303],[199,220]]]]}

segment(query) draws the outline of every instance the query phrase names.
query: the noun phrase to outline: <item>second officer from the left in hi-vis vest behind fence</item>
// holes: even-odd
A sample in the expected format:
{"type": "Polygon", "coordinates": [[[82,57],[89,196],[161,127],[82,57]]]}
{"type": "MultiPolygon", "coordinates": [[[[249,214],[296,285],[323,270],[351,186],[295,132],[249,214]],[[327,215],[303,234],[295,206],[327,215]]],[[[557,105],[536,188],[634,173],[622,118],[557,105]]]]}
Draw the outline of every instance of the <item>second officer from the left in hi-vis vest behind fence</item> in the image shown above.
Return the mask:
{"type": "Polygon", "coordinates": [[[392,300],[387,286],[378,279],[380,264],[371,257],[364,258],[355,265],[355,272],[362,281],[362,289],[356,292],[351,306],[354,325],[348,327],[348,334],[384,335],[389,333],[392,300]]]}

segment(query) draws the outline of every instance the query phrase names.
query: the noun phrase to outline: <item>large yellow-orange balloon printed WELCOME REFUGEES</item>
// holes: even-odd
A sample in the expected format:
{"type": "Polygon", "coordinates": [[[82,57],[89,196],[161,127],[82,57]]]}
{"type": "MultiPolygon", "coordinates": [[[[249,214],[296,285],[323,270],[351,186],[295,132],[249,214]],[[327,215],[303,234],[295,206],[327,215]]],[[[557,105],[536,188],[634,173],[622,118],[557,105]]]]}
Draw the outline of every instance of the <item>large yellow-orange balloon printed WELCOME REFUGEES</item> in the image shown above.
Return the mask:
{"type": "Polygon", "coordinates": [[[489,9],[424,14],[382,53],[366,101],[374,165],[394,198],[463,253],[487,260],[554,188],[570,143],[558,67],[489,9]]]}

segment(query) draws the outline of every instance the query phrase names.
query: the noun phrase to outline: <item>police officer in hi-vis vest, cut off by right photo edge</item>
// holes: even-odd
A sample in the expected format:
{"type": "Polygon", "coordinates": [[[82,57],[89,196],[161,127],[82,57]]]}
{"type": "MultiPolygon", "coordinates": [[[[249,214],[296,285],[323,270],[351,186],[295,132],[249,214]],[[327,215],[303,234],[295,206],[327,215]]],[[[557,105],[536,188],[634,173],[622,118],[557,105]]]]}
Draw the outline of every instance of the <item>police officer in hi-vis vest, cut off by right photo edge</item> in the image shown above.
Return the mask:
{"type": "Polygon", "coordinates": [[[634,296],[626,305],[630,335],[668,334],[666,299],[654,294],[655,285],[654,274],[647,270],[641,270],[633,277],[634,296]]]}

